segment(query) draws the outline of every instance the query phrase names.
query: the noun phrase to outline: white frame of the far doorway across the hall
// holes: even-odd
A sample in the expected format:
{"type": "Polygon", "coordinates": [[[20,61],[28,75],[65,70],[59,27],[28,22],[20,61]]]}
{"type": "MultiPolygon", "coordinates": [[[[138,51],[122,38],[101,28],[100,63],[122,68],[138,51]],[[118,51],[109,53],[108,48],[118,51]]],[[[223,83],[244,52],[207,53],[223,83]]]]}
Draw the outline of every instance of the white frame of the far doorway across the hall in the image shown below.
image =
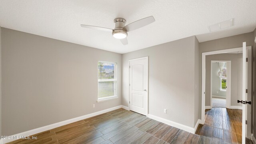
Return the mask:
{"type": "Polygon", "coordinates": [[[231,60],[211,60],[211,70],[210,70],[210,108],[212,109],[212,63],[213,62],[226,62],[227,66],[227,86],[228,90],[226,91],[226,108],[231,107],[231,60]]]}

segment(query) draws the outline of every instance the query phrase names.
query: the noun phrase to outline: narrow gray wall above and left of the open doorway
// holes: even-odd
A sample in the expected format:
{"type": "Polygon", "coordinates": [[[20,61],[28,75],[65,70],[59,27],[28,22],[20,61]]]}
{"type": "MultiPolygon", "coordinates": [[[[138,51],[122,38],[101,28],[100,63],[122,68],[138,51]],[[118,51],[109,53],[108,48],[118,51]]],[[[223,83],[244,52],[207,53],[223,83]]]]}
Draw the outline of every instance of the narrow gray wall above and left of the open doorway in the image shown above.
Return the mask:
{"type": "MultiPolygon", "coordinates": [[[[201,94],[202,91],[202,52],[210,52],[214,50],[224,50],[229,48],[240,48],[242,47],[242,43],[246,42],[247,46],[253,46],[254,40],[252,40],[253,32],[245,33],[245,34],[239,34],[236,36],[229,36],[226,38],[220,38],[216,40],[210,40],[207,42],[200,42],[199,43],[199,91],[201,94]]],[[[201,96],[200,96],[200,102],[201,104],[201,96]]],[[[200,106],[200,112],[201,112],[201,106],[200,106]]],[[[201,119],[201,115],[199,115],[199,119],[201,119]]]]}

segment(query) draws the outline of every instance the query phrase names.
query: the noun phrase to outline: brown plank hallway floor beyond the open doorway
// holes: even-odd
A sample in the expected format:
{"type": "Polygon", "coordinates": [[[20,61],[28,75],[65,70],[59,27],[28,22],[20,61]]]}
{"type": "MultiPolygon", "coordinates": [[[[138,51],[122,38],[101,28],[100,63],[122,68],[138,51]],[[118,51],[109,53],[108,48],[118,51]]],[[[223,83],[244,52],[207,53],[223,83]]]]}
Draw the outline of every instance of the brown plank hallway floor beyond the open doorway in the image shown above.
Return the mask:
{"type": "MultiPolygon", "coordinates": [[[[205,123],[199,124],[196,134],[216,144],[242,144],[242,110],[212,108],[205,110],[205,123]]],[[[246,138],[246,144],[252,144],[246,138]]]]}

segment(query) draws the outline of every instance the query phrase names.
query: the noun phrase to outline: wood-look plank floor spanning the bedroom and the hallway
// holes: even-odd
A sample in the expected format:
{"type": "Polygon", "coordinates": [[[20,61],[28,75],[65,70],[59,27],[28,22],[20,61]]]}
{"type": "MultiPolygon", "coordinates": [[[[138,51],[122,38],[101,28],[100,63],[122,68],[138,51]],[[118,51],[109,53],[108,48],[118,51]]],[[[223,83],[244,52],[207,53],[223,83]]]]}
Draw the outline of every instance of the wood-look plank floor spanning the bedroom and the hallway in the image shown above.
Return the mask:
{"type": "Polygon", "coordinates": [[[234,124],[239,125],[238,113],[240,114],[239,110],[225,111],[221,108],[207,110],[208,125],[200,125],[197,134],[192,134],[120,108],[33,135],[38,137],[37,140],[16,140],[9,144],[237,143],[240,142],[239,129],[234,129],[231,121],[234,119],[234,124]],[[217,118],[218,114],[228,122],[217,118]]]}

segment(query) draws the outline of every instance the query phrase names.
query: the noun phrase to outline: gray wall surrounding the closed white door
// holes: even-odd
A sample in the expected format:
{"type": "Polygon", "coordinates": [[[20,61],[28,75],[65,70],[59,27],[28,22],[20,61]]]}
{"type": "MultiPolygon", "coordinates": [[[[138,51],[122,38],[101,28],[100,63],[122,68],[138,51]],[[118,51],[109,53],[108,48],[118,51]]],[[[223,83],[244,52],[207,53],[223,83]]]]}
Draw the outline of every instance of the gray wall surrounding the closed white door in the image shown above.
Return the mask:
{"type": "Polygon", "coordinates": [[[128,60],[148,56],[149,114],[194,128],[195,41],[191,36],[123,54],[122,104],[129,103],[128,60]]]}

